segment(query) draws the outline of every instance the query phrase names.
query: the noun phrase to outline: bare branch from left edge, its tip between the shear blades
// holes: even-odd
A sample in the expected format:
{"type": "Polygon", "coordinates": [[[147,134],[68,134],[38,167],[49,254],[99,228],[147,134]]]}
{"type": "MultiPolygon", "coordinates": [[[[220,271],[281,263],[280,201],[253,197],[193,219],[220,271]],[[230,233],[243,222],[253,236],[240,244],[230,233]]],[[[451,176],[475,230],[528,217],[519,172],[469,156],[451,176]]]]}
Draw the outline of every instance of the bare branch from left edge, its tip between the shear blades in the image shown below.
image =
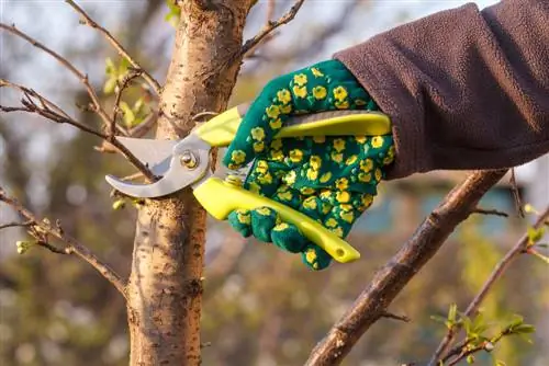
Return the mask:
{"type": "Polygon", "coordinates": [[[67,113],[65,113],[60,107],[58,107],[55,103],[52,101],[47,100],[46,98],[42,96],[34,90],[13,83],[11,81],[0,79],[0,88],[13,88],[19,90],[20,92],[23,93],[23,98],[21,99],[21,104],[23,106],[3,106],[0,105],[0,111],[2,112],[27,112],[27,113],[34,113],[38,114],[46,119],[53,121],[55,123],[59,124],[69,124],[71,126],[75,126],[88,134],[94,135],[97,137],[102,138],[103,140],[109,140],[110,144],[112,144],[116,149],[137,169],[139,172],[143,173],[149,181],[155,181],[156,176],[153,174],[153,172],[145,165],[143,162],[141,162],[139,159],[137,159],[130,150],[126,149],[126,147],[122,144],[119,142],[115,138],[110,138],[110,136],[100,133],[93,128],[90,128],[72,117],[70,117],[67,113]],[[36,101],[38,103],[36,103],[36,101]]]}

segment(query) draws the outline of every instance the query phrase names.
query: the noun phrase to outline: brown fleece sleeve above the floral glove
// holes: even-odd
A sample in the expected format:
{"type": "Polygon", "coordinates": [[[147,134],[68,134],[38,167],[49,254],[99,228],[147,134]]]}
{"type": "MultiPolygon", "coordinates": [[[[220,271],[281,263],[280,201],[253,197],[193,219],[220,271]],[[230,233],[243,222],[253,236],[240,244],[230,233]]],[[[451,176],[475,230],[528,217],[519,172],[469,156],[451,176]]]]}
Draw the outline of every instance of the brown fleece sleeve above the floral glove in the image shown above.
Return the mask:
{"type": "Polygon", "coordinates": [[[335,55],[393,121],[388,179],[549,152],[549,0],[442,11],[335,55]]]}

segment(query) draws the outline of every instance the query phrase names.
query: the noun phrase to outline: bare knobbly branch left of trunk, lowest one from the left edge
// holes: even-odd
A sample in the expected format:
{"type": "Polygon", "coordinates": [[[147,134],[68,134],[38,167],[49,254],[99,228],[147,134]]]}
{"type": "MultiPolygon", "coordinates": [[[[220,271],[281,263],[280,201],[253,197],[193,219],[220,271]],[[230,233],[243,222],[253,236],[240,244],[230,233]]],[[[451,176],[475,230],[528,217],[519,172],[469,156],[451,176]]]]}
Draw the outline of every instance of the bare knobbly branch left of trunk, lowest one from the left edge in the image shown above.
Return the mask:
{"type": "Polygon", "coordinates": [[[21,205],[15,198],[8,196],[2,187],[0,187],[0,201],[13,207],[13,209],[27,220],[29,226],[32,228],[31,232],[38,240],[38,244],[44,245],[56,253],[65,252],[65,254],[74,253],[78,255],[93,266],[93,268],[96,268],[107,281],[109,281],[119,290],[119,293],[124,296],[124,298],[126,297],[125,281],[107,263],[99,260],[86,245],[67,236],[58,222],[56,226],[52,226],[47,220],[38,221],[34,214],[23,207],[23,205],[21,205]],[[55,247],[48,243],[48,235],[63,241],[66,244],[66,248],[64,250],[56,250],[55,247]]]}

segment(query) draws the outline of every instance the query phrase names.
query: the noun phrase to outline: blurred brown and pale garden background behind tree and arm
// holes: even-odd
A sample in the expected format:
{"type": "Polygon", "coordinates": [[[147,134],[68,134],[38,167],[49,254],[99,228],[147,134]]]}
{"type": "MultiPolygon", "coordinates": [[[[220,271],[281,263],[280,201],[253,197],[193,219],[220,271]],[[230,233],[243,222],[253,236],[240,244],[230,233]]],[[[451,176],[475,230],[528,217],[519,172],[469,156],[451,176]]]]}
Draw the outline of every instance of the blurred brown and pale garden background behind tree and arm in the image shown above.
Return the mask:
{"type": "MultiPolygon", "coordinates": [[[[285,12],[293,1],[260,0],[246,38],[285,12]]],[[[493,0],[475,1],[480,8],[493,0]]],[[[173,38],[165,1],[80,1],[142,65],[164,82],[173,38]]],[[[242,70],[231,104],[254,98],[271,78],[330,57],[341,48],[403,22],[463,4],[464,1],[307,0],[298,16],[257,49],[242,70]]],[[[120,58],[63,1],[0,0],[0,20],[60,52],[101,90],[105,60],[120,58]]],[[[0,33],[0,77],[31,87],[86,124],[98,118],[75,104],[87,101],[78,80],[55,60],[5,32],[0,33]]],[[[1,103],[18,95],[0,90],[1,103]]],[[[128,104],[143,95],[128,92],[128,104]]],[[[102,96],[107,104],[112,95],[102,96]]],[[[146,106],[154,110],[154,101],[146,106]]],[[[113,155],[70,126],[27,114],[0,114],[0,185],[40,216],[60,219],[66,231],[87,243],[119,273],[128,274],[135,210],[113,210],[107,172],[127,171],[113,155]]],[[[299,256],[244,240],[225,222],[210,220],[203,309],[204,365],[301,365],[312,347],[369,283],[374,271],[397,251],[422,219],[467,173],[436,172],[383,184],[374,206],[355,225],[350,242],[362,253],[352,264],[312,273],[299,256]]],[[[525,202],[549,203],[549,159],[517,170],[525,202]]],[[[472,216],[408,284],[391,311],[412,321],[379,321],[357,344],[345,365],[399,365],[429,358],[445,334],[430,319],[456,302],[464,309],[504,252],[524,232],[508,179],[481,206],[511,213],[509,218],[472,216]]],[[[0,206],[0,222],[16,217],[0,206]]],[[[75,258],[33,249],[18,255],[19,229],[0,231],[0,365],[127,365],[125,308],[120,295],[94,270],[75,258]]],[[[520,313],[537,327],[534,343],[504,341],[481,365],[547,365],[549,287],[547,264],[520,258],[484,304],[486,317],[520,313]]]]}

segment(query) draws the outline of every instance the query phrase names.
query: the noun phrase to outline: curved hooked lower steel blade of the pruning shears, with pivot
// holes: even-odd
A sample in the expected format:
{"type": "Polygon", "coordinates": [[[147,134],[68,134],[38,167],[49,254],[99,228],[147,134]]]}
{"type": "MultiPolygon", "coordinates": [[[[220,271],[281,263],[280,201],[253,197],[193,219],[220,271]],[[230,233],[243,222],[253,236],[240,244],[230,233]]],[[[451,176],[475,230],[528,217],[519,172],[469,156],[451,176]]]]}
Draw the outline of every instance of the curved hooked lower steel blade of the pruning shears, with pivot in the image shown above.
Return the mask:
{"type": "Polygon", "coordinates": [[[113,175],[107,175],[105,180],[112,187],[132,197],[161,197],[201,180],[210,167],[209,158],[210,145],[191,134],[172,147],[170,157],[167,159],[169,168],[159,181],[152,184],[136,184],[113,175]],[[186,153],[192,153],[197,159],[197,165],[193,169],[186,168],[181,163],[181,157],[186,153]]]}

